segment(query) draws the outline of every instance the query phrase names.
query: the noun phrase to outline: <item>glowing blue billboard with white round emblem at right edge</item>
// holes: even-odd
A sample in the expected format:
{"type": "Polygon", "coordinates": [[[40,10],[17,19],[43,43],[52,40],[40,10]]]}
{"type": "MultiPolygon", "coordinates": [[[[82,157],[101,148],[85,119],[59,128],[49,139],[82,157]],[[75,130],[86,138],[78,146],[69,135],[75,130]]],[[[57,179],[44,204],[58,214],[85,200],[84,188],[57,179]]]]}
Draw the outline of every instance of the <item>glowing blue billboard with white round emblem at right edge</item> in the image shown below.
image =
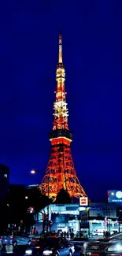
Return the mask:
{"type": "Polygon", "coordinates": [[[108,202],[121,202],[122,203],[122,191],[117,191],[117,190],[108,191],[108,202]]]}

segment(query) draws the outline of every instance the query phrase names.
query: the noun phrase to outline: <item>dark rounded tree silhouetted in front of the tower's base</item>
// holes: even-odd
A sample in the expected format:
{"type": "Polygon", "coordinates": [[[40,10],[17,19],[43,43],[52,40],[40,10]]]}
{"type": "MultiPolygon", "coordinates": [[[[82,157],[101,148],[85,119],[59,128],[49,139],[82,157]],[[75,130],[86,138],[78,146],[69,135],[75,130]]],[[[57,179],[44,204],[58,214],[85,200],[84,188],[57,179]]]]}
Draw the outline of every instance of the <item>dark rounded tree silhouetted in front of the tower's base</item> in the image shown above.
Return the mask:
{"type": "Polygon", "coordinates": [[[57,194],[56,203],[72,203],[72,198],[68,194],[68,191],[64,188],[61,188],[57,194]]]}

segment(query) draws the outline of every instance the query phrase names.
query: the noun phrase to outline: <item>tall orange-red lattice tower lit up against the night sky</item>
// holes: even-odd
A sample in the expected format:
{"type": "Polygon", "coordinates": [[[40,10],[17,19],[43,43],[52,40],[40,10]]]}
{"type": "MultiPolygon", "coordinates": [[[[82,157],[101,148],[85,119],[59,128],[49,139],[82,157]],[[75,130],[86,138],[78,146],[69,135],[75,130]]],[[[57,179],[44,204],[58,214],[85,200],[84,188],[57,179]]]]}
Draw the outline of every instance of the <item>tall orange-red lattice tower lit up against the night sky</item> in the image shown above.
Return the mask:
{"type": "Polygon", "coordinates": [[[87,196],[79,184],[72,161],[70,143],[72,133],[68,128],[68,106],[65,92],[65,66],[62,59],[62,35],[59,35],[59,55],[56,71],[57,89],[54,102],[54,125],[50,132],[50,159],[40,189],[50,198],[56,198],[61,188],[73,198],[87,196]]]}

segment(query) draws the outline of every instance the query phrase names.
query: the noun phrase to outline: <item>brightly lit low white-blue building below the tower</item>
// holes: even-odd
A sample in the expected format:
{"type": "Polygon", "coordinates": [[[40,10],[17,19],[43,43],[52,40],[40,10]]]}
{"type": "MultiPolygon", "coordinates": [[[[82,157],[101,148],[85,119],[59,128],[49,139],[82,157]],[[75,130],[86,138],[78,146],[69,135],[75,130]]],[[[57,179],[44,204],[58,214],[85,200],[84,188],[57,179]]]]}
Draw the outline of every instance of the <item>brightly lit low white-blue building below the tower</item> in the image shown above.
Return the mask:
{"type": "MultiPolygon", "coordinates": [[[[119,231],[119,225],[116,215],[116,203],[114,202],[89,202],[89,206],[86,207],[86,213],[88,213],[87,222],[89,223],[87,228],[81,228],[81,230],[93,233],[95,230],[102,231],[119,231]],[[88,210],[88,211],[87,211],[88,210]]],[[[84,207],[82,210],[84,212],[84,207]]],[[[51,204],[43,209],[42,213],[39,213],[39,222],[37,223],[37,229],[39,232],[43,231],[43,213],[48,215],[51,223],[50,230],[62,231],[62,232],[78,232],[80,225],[83,225],[81,218],[81,209],[78,203],[73,204],[51,204]]],[[[122,228],[121,228],[122,231],[122,228]]]]}

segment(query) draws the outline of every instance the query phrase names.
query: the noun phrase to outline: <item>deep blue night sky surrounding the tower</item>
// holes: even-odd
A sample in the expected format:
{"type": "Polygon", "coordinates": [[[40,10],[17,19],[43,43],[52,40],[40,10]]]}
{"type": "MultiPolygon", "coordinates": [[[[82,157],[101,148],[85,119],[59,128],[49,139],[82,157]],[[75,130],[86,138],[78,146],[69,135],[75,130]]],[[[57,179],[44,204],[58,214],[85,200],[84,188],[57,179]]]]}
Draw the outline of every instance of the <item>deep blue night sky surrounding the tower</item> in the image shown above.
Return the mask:
{"type": "Polygon", "coordinates": [[[46,170],[61,24],[76,173],[91,200],[121,189],[122,1],[5,0],[0,24],[0,161],[10,182],[38,184],[46,170]]]}

